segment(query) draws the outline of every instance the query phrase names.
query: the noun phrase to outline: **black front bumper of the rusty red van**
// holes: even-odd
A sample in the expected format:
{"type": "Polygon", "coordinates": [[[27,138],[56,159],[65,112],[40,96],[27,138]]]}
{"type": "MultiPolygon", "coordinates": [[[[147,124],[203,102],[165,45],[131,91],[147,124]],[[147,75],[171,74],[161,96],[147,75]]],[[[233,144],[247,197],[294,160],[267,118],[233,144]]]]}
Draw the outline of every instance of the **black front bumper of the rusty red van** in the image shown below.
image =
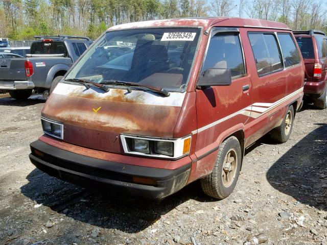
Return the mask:
{"type": "Polygon", "coordinates": [[[191,170],[191,163],[168,170],[111,162],[68,152],[40,140],[30,146],[31,162],[46,174],[85,187],[103,191],[109,187],[148,199],[162,199],[183,188],[191,170]],[[156,180],[156,185],[133,183],[132,177],[156,180]]]}

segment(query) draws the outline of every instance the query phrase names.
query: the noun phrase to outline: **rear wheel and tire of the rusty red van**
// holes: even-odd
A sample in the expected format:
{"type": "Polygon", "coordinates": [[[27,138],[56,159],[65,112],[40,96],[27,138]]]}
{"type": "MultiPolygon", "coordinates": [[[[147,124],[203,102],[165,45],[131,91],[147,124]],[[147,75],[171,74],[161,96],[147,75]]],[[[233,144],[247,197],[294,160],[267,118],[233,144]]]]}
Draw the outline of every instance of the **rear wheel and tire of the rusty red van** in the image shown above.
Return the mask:
{"type": "Polygon", "coordinates": [[[270,136],[273,140],[284,143],[286,142],[292,133],[294,121],[294,108],[289,106],[287,108],[286,114],[283,118],[281,126],[274,128],[270,131],[270,136]]]}

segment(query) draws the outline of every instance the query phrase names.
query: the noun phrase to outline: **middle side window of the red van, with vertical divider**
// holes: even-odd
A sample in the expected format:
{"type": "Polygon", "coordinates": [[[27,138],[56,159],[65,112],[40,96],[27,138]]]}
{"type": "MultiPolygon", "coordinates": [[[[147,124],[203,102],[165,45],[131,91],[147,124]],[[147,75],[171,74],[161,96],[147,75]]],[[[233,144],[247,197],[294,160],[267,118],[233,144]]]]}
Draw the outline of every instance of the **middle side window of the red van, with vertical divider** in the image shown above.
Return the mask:
{"type": "Polygon", "coordinates": [[[259,76],[283,68],[281,54],[273,34],[249,33],[248,35],[259,76]]]}

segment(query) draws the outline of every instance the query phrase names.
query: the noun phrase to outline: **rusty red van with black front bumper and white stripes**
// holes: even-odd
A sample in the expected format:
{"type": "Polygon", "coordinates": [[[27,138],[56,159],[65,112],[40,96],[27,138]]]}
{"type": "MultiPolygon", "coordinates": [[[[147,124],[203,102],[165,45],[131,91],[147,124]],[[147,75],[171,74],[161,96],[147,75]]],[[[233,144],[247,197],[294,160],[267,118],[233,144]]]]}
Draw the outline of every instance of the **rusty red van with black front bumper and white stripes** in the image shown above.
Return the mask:
{"type": "Polygon", "coordinates": [[[30,159],[84,186],[162,199],[200,179],[226,198],[244,151],[285,142],[304,64],[283,23],[153,20],[109,28],[46,101],[30,159]],[[105,189],[107,188],[107,189],[105,189]]]}

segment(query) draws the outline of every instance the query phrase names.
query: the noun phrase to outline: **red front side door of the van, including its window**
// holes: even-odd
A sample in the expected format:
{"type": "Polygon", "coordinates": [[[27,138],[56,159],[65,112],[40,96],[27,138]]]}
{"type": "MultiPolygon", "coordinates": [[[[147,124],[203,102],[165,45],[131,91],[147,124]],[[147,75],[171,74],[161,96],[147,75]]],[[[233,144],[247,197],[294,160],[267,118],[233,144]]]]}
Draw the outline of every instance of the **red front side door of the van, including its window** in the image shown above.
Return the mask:
{"type": "MultiPolygon", "coordinates": [[[[250,112],[246,109],[252,104],[252,85],[246,72],[237,29],[212,31],[200,76],[208,68],[230,69],[232,82],[231,85],[196,89],[198,158],[217,149],[224,135],[228,136],[231,131],[243,130],[249,118],[250,112]]],[[[212,166],[205,166],[205,162],[201,161],[197,165],[197,169],[210,167],[212,170],[212,166]]]]}

